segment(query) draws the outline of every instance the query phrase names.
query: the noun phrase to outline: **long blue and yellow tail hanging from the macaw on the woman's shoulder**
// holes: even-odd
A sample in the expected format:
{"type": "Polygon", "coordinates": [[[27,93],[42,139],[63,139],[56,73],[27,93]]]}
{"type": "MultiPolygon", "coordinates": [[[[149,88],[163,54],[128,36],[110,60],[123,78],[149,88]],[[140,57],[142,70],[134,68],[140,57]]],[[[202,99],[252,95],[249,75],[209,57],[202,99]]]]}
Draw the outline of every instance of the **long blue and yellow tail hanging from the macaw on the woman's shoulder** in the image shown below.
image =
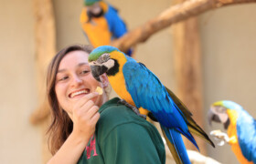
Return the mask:
{"type": "Polygon", "coordinates": [[[175,129],[165,128],[163,126],[161,126],[161,129],[163,131],[167,146],[170,149],[176,163],[191,163],[188,159],[187,149],[179,132],[177,132],[175,129]]]}

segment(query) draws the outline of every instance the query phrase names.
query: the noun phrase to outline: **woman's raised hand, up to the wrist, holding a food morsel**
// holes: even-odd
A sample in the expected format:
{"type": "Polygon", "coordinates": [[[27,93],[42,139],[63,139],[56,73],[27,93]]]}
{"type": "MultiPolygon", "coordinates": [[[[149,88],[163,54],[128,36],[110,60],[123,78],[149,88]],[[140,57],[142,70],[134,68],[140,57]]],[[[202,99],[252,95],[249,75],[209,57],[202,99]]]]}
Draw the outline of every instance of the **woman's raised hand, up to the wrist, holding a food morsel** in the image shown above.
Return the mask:
{"type": "Polygon", "coordinates": [[[72,108],[73,131],[72,135],[89,141],[95,132],[96,123],[100,118],[99,107],[91,100],[97,97],[97,92],[90,93],[80,98],[72,108]]]}

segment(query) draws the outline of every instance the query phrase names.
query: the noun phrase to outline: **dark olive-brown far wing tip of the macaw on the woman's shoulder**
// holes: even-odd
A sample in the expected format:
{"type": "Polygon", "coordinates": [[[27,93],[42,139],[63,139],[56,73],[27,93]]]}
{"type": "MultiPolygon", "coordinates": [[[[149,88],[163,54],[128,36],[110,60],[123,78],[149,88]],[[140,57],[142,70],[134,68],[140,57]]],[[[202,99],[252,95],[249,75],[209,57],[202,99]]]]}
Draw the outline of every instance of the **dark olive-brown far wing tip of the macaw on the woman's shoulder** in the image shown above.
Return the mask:
{"type": "Polygon", "coordinates": [[[214,143],[210,140],[210,138],[208,138],[208,135],[206,134],[206,132],[197,125],[197,123],[195,122],[195,120],[193,118],[191,118],[192,113],[187,109],[187,107],[181,102],[181,100],[178,97],[176,97],[176,95],[170,89],[168,89],[167,87],[165,87],[165,89],[167,90],[170,97],[173,98],[174,102],[176,103],[176,106],[182,111],[185,118],[187,118],[188,130],[191,133],[197,135],[199,138],[203,138],[213,148],[215,148],[214,143]]]}

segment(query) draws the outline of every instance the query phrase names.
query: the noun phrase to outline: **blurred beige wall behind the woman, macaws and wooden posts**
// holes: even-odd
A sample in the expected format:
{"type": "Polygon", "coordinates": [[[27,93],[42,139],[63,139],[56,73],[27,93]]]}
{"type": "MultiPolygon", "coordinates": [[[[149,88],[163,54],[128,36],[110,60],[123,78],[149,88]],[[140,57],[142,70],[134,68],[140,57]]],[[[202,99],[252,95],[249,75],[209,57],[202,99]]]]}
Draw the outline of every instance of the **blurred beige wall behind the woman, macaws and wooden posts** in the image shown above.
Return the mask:
{"type": "MultiPolygon", "coordinates": [[[[143,25],[174,3],[170,0],[109,0],[119,9],[129,30],[143,25]]],[[[88,44],[80,27],[82,0],[54,0],[55,52],[64,46],[88,44]]],[[[29,119],[40,106],[44,73],[38,73],[37,31],[33,0],[1,0],[0,5],[0,163],[46,163],[46,127],[29,119]],[[39,77],[38,77],[39,76],[39,77]]],[[[42,6],[43,7],[43,6],[42,6]]],[[[201,53],[202,126],[207,133],[210,105],[221,99],[239,103],[256,118],[256,4],[230,5],[197,16],[201,53]]],[[[177,92],[175,26],[170,26],[136,46],[135,58],[177,92]]],[[[45,35],[45,34],[41,34],[45,35]]],[[[46,51],[46,58],[55,52],[46,51]]],[[[191,54],[193,56],[193,54],[191,54]]],[[[40,56],[42,57],[42,56],[40,56]]],[[[48,59],[46,59],[48,61],[48,59]]],[[[181,63],[183,64],[183,63],[181,63]]],[[[41,63],[43,67],[48,62],[41,63]]],[[[184,62],[186,67],[186,62],[184,62]]],[[[189,83],[189,81],[187,81],[189,83]]],[[[113,91],[112,91],[113,92],[113,91]]],[[[112,93],[112,97],[115,94],[112,93]]],[[[177,94],[177,96],[179,96],[177,94]]],[[[182,99],[182,98],[181,98],[182,99]]],[[[205,155],[221,163],[239,163],[229,145],[206,147],[205,155]]]]}

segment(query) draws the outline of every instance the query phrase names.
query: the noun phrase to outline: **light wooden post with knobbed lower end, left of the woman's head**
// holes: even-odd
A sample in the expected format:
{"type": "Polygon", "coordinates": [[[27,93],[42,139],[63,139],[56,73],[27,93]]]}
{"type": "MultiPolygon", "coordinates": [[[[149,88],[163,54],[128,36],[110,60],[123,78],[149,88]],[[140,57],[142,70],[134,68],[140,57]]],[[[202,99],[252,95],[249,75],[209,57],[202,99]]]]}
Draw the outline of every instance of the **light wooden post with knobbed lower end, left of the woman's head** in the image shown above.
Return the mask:
{"type": "Polygon", "coordinates": [[[56,32],[51,0],[34,0],[38,107],[31,114],[32,124],[41,123],[49,115],[46,97],[46,70],[56,53],[56,32]]]}

